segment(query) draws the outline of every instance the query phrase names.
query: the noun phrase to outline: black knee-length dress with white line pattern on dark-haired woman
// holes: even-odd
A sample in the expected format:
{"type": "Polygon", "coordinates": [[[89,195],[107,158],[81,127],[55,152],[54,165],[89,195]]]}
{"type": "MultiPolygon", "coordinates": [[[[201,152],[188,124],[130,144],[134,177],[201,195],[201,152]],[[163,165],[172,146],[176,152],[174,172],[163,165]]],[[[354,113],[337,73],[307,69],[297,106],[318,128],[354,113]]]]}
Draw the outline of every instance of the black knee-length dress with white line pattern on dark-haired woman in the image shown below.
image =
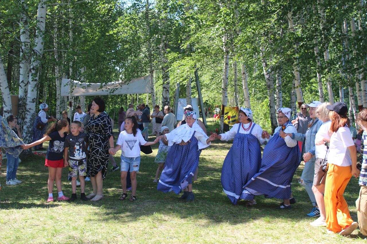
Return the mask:
{"type": "Polygon", "coordinates": [[[87,176],[94,177],[102,171],[103,180],[106,178],[109,158],[109,138],[113,135],[111,119],[106,112],[97,117],[93,115],[87,124],[89,155],[87,161],[87,176]]]}

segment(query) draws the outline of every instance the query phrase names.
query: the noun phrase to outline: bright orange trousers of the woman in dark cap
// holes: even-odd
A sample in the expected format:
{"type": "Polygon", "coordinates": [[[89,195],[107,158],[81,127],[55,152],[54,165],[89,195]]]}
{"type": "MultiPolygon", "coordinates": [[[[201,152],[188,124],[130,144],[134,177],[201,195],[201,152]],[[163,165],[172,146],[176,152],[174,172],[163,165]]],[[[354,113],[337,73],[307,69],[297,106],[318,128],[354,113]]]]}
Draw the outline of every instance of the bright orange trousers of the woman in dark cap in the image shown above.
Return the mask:
{"type": "Polygon", "coordinates": [[[339,233],[342,229],[349,226],[353,220],[350,217],[348,204],[343,193],[352,178],[352,166],[338,166],[330,163],[325,182],[325,210],[326,210],[326,228],[339,233]]]}

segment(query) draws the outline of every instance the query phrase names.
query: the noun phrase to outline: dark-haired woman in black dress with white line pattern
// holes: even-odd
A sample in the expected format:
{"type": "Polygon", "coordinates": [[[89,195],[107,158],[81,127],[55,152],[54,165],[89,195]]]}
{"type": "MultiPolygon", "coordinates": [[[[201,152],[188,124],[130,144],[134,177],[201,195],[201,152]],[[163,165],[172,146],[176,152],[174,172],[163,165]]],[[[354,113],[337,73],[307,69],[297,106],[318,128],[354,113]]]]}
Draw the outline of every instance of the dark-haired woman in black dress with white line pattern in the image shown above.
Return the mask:
{"type": "Polygon", "coordinates": [[[87,196],[91,201],[102,199],[103,180],[106,178],[109,149],[113,148],[113,132],[111,118],[105,112],[105,102],[95,97],[90,113],[93,114],[87,124],[89,155],[87,176],[90,177],[93,192],[87,196]],[[110,146],[111,145],[111,146],[110,146]]]}

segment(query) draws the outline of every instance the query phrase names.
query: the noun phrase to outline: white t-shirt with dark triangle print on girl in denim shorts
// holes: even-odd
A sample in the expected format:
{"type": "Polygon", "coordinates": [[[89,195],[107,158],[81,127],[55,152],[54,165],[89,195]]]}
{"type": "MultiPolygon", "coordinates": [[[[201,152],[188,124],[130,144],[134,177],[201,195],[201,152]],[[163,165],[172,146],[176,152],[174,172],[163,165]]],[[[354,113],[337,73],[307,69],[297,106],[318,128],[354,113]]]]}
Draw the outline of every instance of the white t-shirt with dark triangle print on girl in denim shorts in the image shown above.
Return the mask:
{"type": "Polygon", "coordinates": [[[137,131],[136,136],[134,136],[134,134],[128,134],[126,130],[124,130],[120,132],[116,144],[121,146],[121,155],[128,158],[135,158],[140,156],[139,143],[141,145],[145,145],[146,143],[140,130],[137,131]]]}

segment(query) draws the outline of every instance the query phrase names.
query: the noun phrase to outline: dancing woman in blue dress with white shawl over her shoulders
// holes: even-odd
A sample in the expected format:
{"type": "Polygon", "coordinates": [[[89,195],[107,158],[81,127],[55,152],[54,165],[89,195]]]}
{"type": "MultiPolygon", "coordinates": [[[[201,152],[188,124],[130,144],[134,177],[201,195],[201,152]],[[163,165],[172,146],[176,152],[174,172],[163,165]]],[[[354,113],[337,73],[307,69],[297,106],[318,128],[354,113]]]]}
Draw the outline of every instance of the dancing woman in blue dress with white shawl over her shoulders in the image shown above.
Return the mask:
{"type": "Polygon", "coordinates": [[[183,195],[179,199],[191,202],[194,200],[192,177],[199,165],[199,149],[208,147],[215,137],[213,135],[208,137],[204,133],[196,122],[195,112],[187,111],[185,115],[186,124],[156,138],[159,141],[166,137],[170,146],[157,190],[174,191],[176,194],[183,190],[183,195]]]}

